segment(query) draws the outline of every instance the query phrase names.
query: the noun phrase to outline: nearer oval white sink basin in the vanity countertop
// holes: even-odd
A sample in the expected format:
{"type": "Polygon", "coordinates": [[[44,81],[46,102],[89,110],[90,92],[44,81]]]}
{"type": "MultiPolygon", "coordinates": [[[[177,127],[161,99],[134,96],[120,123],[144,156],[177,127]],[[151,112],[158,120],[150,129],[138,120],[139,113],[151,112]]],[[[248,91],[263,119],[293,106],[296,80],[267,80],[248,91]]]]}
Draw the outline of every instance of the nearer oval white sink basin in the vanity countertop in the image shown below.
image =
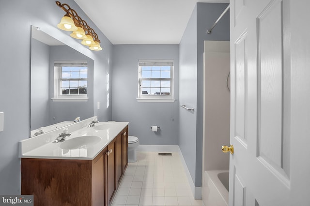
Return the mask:
{"type": "Polygon", "coordinates": [[[101,141],[99,136],[80,136],[65,140],[59,147],[62,149],[79,149],[95,145],[101,141]]]}

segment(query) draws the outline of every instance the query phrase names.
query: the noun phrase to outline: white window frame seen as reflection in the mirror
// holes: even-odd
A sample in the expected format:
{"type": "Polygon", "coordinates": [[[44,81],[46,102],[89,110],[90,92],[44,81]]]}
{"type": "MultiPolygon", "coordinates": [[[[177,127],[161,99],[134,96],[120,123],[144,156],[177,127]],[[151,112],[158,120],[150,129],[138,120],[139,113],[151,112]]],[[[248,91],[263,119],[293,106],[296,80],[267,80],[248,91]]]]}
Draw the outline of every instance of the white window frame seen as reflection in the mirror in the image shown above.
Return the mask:
{"type": "Polygon", "coordinates": [[[62,94],[61,91],[62,66],[55,66],[55,64],[62,66],[83,66],[83,65],[87,66],[87,61],[86,60],[54,61],[54,98],[52,98],[53,102],[87,102],[88,101],[87,94],[77,94],[77,95],[62,94]]]}

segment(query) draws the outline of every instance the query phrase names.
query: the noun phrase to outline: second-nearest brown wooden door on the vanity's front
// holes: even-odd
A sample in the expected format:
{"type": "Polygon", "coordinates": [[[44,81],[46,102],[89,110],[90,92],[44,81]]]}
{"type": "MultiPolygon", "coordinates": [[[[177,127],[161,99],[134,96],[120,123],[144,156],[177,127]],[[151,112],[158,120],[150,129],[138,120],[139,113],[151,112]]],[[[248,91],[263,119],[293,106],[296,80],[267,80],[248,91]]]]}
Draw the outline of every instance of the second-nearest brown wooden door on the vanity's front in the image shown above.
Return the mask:
{"type": "Polygon", "coordinates": [[[116,191],[116,139],[108,145],[108,205],[116,191]]]}

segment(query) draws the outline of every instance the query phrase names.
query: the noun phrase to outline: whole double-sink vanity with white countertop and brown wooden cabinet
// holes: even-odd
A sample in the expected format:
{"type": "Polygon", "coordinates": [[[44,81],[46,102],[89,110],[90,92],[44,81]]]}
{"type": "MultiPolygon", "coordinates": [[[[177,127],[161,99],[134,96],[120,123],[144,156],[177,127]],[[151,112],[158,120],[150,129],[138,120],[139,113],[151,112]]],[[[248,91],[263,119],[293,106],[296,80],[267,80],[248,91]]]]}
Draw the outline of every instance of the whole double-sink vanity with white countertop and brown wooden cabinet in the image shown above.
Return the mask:
{"type": "Polygon", "coordinates": [[[128,122],[93,118],[19,142],[21,194],[35,206],[109,206],[127,167],[128,122]]]}

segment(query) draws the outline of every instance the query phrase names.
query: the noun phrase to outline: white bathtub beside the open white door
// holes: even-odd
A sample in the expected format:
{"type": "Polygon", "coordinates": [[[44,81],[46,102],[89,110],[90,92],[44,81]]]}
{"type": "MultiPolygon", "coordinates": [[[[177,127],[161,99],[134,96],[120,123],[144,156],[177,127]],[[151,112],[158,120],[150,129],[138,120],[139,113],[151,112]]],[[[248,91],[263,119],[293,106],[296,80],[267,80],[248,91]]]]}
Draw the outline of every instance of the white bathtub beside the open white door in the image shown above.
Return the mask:
{"type": "Polygon", "coordinates": [[[204,206],[228,206],[228,170],[209,170],[203,173],[202,203],[204,206]]]}

